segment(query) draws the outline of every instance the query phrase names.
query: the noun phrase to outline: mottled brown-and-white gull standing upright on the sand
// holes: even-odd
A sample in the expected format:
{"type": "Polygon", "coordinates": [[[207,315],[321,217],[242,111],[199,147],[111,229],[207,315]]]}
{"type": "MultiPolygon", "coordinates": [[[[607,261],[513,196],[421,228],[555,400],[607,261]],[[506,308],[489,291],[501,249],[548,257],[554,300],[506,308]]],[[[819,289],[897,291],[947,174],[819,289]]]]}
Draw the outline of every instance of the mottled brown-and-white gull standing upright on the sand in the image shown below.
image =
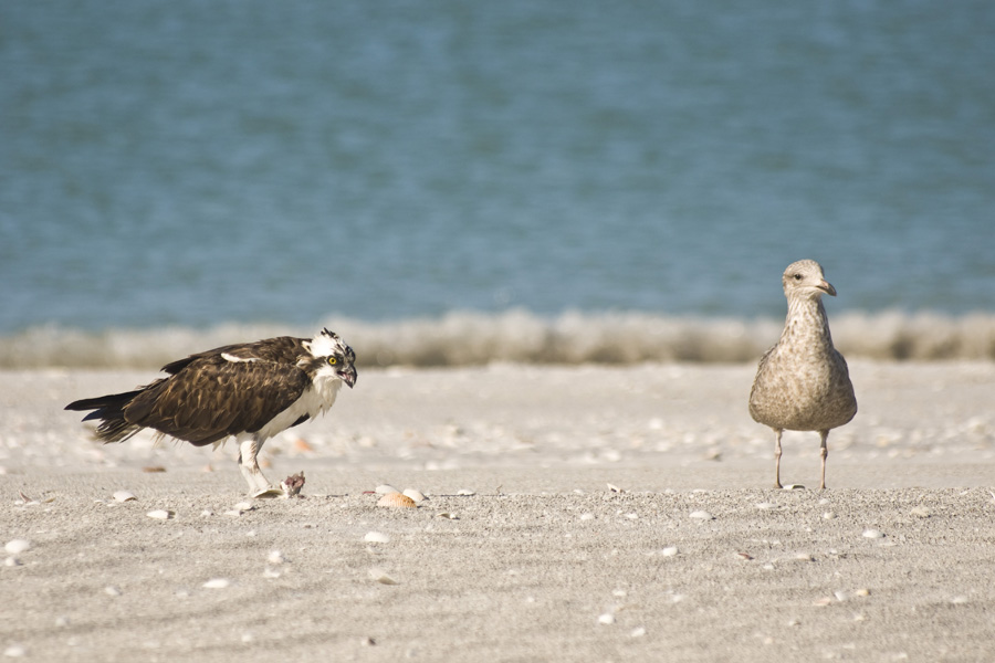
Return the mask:
{"type": "Polygon", "coordinates": [[[781,486],[781,435],[785,429],[818,431],[823,459],[819,487],[826,487],[826,440],[831,429],[857,414],[847,361],[829,335],[823,295],[836,296],[823,267],[799,260],[782,277],[788,313],[777,344],[761,358],[750,392],[754,421],[774,429],[774,487],[781,486]]]}

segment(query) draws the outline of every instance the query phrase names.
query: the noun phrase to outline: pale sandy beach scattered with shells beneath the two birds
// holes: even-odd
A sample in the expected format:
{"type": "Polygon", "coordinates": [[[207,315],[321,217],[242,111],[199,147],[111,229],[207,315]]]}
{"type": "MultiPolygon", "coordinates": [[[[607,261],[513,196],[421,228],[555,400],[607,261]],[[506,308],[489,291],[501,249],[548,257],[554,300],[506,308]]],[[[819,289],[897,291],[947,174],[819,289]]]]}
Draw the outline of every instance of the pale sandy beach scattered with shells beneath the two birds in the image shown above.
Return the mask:
{"type": "Polygon", "coordinates": [[[809,488],[769,487],[752,365],[500,365],[362,372],[264,448],[305,497],[238,508],[233,445],[102,446],[62,411],[155,373],[0,372],[0,544],[30,541],[0,567],[0,652],[995,660],[995,364],[850,364],[823,492],[815,433],[782,460],[809,488]],[[377,507],[385,483],[429,499],[377,507]]]}

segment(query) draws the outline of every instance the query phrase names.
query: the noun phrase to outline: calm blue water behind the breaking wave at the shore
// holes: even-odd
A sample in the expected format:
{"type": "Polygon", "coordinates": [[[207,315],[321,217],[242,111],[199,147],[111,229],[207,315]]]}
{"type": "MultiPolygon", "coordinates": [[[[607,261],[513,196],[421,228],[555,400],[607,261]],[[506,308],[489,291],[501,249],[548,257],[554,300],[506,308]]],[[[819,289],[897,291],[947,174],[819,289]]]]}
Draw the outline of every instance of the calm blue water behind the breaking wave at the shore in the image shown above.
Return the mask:
{"type": "Polygon", "coordinates": [[[995,312],[995,3],[0,6],[0,335],[995,312]]]}

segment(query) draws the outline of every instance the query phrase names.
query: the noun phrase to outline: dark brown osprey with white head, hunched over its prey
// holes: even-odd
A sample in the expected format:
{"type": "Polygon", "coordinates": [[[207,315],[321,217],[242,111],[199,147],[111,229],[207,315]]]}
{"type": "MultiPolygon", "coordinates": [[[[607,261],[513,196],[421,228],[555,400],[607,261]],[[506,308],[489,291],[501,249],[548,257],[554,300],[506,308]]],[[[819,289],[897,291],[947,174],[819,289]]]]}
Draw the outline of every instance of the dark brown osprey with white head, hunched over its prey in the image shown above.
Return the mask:
{"type": "Polygon", "coordinates": [[[135,391],[77,400],[66,410],[93,410],[98,440],[123,442],[153,429],[195,446],[233,435],[239,469],[253,496],[282,491],[266,481],[256,455],[263,443],[335,402],[342,383],[356,383],[356,354],[337,334],[280,336],[229,345],[163,367],[168,377],[135,391]]]}

